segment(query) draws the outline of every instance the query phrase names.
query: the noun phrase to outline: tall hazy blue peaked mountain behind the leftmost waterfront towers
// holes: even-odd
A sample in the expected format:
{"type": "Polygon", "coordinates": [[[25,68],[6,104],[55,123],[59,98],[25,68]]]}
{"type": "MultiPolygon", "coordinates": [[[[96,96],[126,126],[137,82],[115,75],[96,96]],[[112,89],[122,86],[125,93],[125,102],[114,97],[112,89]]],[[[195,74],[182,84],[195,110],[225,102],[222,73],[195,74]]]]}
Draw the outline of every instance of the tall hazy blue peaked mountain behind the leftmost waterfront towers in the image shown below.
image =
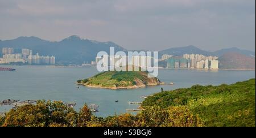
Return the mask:
{"type": "Polygon", "coordinates": [[[70,36],[61,41],[46,41],[38,37],[18,37],[14,40],[0,41],[0,49],[12,47],[14,49],[32,49],[33,53],[40,55],[55,55],[57,63],[77,64],[95,61],[98,51],[109,51],[114,46],[115,51],[125,51],[113,42],[98,42],[82,39],[79,36],[70,36]]]}

